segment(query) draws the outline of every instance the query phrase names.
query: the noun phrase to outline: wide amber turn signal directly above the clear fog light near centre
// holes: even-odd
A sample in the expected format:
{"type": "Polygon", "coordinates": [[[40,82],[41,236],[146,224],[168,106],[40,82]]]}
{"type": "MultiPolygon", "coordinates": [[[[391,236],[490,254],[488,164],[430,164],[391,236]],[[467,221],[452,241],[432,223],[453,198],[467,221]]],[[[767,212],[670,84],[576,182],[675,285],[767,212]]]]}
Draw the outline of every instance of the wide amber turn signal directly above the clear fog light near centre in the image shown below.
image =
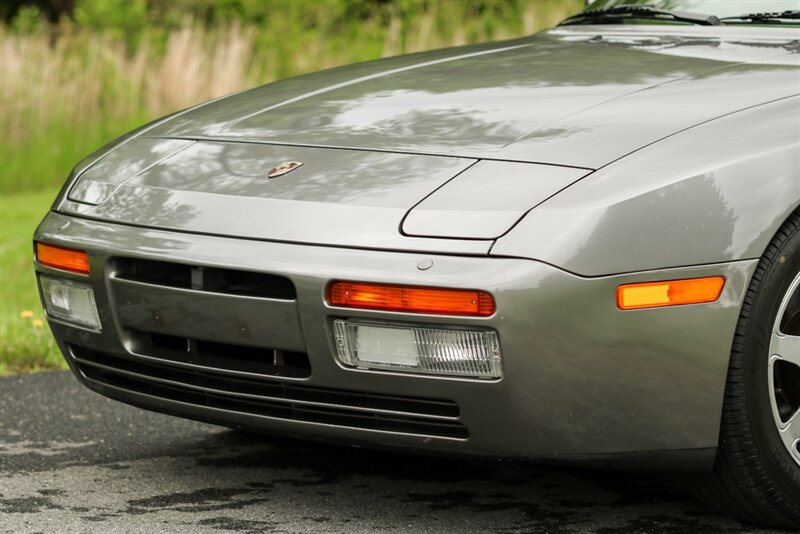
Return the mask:
{"type": "Polygon", "coordinates": [[[407,313],[487,317],[497,309],[489,293],[471,289],[334,282],[326,298],[333,306],[407,313]]]}

